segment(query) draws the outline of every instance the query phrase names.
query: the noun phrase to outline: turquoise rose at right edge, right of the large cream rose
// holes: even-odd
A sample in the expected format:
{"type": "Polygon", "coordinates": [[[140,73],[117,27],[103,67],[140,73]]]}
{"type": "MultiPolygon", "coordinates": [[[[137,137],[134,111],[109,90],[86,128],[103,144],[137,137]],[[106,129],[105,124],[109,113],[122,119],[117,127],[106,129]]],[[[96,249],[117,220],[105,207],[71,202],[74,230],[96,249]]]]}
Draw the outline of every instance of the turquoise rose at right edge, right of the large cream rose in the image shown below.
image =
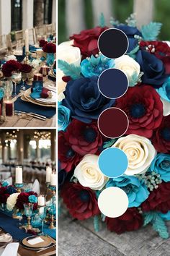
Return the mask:
{"type": "Polygon", "coordinates": [[[160,174],[161,179],[164,180],[164,182],[170,182],[170,155],[158,153],[153,159],[150,169],[151,171],[160,174]]]}

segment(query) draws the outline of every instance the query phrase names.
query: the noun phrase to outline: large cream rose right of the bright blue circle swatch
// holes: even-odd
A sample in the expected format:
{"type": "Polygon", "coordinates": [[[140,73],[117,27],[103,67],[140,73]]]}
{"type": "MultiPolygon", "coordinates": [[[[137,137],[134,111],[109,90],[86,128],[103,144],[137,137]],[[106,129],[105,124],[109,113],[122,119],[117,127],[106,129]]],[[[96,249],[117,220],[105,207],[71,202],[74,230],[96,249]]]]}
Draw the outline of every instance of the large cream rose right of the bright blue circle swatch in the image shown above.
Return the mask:
{"type": "Polygon", "coordinates": [[[112,147],[120,148],[126,153],[128,168],[125,174],[127,175],[145,173],[156,155],[151,141],[138,135],[121,137],[112,147]]]}

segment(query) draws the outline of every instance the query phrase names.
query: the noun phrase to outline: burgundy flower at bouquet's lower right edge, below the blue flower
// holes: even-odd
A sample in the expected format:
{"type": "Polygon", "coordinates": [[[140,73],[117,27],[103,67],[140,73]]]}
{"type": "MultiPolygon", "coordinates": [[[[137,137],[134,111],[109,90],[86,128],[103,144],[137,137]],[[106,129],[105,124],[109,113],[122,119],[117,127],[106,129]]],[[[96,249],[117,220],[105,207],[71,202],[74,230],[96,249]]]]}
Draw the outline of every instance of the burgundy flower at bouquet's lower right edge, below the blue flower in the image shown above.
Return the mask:
{"type": "Polygon", "coordinates": [[[144,212],[150,210],[167,213],[170,210],[170,182],[162,182],[158,189],[154,189],[148,199],[142,203],[141,208],[144,212]]]}

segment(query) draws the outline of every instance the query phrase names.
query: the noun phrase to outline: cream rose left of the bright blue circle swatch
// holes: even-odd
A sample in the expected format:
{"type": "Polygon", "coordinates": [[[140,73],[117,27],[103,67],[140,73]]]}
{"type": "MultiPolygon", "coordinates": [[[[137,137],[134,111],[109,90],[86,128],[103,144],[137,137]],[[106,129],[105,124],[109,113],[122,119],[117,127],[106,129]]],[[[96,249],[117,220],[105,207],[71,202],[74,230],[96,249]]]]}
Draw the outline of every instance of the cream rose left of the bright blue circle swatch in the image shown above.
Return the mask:
{"type": "Polygon", "coordinates": [[[98,166],[97,155],[85,155],[74,170],[74,176],[84,187],[90,187],[94,190],[100,190],[107,183],[109,178],[104,176],[98,166]]]}

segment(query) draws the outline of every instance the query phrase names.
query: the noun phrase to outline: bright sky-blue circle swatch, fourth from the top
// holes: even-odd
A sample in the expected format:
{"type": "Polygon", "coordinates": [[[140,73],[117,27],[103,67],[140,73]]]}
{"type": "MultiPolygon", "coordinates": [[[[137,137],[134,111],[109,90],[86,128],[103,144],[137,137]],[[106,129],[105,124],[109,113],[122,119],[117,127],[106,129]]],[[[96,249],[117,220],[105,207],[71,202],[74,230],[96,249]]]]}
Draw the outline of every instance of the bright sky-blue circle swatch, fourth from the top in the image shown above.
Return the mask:
{"type": "Polygon", "coordinates": [[[99,155],[98,165],[105,176],[117,178],[128,168],[128,158],[119,148],[107,148],[99,155]]]}

